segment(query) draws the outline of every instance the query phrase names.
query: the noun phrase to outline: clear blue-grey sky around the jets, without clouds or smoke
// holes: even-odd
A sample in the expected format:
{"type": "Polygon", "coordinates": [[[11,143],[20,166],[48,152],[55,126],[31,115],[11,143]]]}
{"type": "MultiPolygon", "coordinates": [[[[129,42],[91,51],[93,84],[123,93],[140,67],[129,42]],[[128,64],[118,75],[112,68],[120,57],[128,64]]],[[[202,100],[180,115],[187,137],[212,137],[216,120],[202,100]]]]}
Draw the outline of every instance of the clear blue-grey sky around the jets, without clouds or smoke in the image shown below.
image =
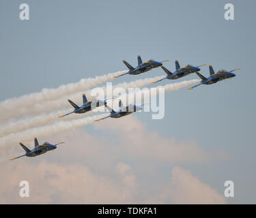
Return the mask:
{"type": "MultiPolygon", "coordinates": [[[[143,61],[169,59],[164,65],[171,72],[176,59],[181,66],[205,63],[215,71],[241,68],[231,80],[166,93],[165,119],[135,116],[162,137],[193,140],[209,152],[223,149],[230,159],[180,166],[218,193],[233,181],[236,197],[229,203],[255,203],[255,1],[26,1],[28,21],[18,18],[20,3],[0,3],[1,101],[125,70],[122,60],[135,66],[137,55],[143,61]],[[225,3],[233,3],[235,20],[224,19],[225,3]]],[[[154,69],[114,82],[163,74],[154,69]]],[[[208,66],[201,74],[208,76],[208,66]]],[[[162,84],[169,82],[175,81],[162,84]]],[[[109,134],[92,125],[85,130],[109,134]]],[[[159,165],[164,181],[171,168],[159,165]]]]}

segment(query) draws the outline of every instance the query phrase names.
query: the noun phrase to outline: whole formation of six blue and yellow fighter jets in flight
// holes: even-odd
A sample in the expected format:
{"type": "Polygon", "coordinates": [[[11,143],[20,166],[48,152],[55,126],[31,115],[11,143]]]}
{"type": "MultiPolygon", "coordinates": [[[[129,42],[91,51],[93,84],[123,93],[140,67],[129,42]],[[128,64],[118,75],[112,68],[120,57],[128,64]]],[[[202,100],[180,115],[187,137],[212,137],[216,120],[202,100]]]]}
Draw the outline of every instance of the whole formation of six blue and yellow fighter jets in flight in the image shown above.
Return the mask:
{"type": "MultiPolygon", "coordinates": [[[[195,87],[198,87],[201,84],[214,84],[221,80],[232,78],[232,77],[236,76],[236,74],[233,74],[232,72],[240,69],[240,68],[236,68],[229,72],[225,69],[220,69],[218,72],[215,73],[214,69],[212,68],[212,65],[209,65],[210,76],[208,78],[205,78],[202,74],[199,74],[199,71],[201,70],[200,67],[204,66],[205,64],[198,65],[196,67],[193,65],[186,65],[186,67],[180,67],[179,62],[176,60],[175,61],[176,69],[175,69],[175,72],[172,73],[162,65],[163,62],[169,61],[169,60],[154,61],[153,59],[150,59],[150,61],[143,62],[141,60],[141,56],[138,56],[137,59],[138,59],[137,67],[132,67],[129,63],[127,63],[126,61],[123,61],[124,64],[126,65],[126,67],[128,67],[129,71],[126,72],[125,74],[121,74],[119,76],[114,76],[114,78],[119,78],[120,76],[124,76],[126,74],[130,74],[130,75],[142,74],[142,73],[145,73],[145,72],[147,72],[151,69],[154,69],[156,67],[162,67],[162,69],[165,71],[167,76],[165,78],[162,78],[162,79],[157,80],[152,83],[157,83],[157,82],[160,82],[165,79],[176,80],[178,78],[188,76],[189,74],[196,73],[197,76],[199,76],[199,78],[201,78],[201,82],[199,84],[195,85],[194,87],[188,88],[189,90],[191,90],[191,89],[194,89],[195,87]]],[[[108,99],[104,99],[104,100],[92,99],[92,100],[88,101],[85,94],[83,94],[83,105],[77,106],[76,104],[74,104],[74,102],[72,102],[70,99],[68,99],[68,102],[74,108],[74,110],[72,112],[69,112],[68,114],[72,114],[72,113],[83,114],[85,112],[93,110],[94,108],[97,108],[100,106],[105,106],[109,110],[110,114],[109,114],[109,116],[105,116],[102,119],[96,120],[96,121],[101,121],[101,120],[109,118],[109,117],[120,118],[122,116],[126,116],[128,114],[131,114],[132,112],[137,112],[139,110],[142,110],[143,105],[145,105],[145,104],[142,104],[141,106],[136,106],[134,104],[130,104],[128,106],[124,106],[122,104],[122,101],[119,100],[119,110],[115,111],[107,105],[107,102],[106,102],[107,100],[108,99]]],[[[64,114],[59,117],[64,117],[64,116],[67,116],[68,114],[64,114]]],[[[64,142],[60,142],[58,144],[63,144],[63,143],[64,142]]],[[[43,153],[46,153],[47,151],[52,151],[52,150],[56,149],[58,144],[50,144],[48,142],[44,142],[43,144],[38,144],[38,139],[35,138],[35,147],[34,147],[34,149],[29,150],[23,143],[20,142],[20,146],[23,147],[23,149],[26,151],[26,153],[24,155],[20,155],[19,157],[23,157],[23,156],[35,157],[38,155],[42,155],[43,153]]],[[[19,157],[15,157],[11,160],[17,159],[19,157]]]]}

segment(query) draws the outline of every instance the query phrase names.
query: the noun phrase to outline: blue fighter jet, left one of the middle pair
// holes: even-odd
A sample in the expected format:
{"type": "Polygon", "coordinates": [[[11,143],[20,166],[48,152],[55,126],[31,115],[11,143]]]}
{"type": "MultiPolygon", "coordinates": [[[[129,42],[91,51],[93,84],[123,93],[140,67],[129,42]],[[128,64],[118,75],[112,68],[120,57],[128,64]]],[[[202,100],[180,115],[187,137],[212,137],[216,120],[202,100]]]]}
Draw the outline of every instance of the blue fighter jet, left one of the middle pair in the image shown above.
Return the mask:
{"type": "MultiPolygon", "coordinates": [[[[70,99],[68,99],[68,102],[70,102],[70,104],[74,107],[74,110],[72,112],[69,112],[68,114],[72,114],[72,113],[83,114],[85,112],[93,110],[96,107],[105,105],[107,100],[108,99],[105,99],[105,100],[93,99],[91,101],[88,101],[85,94],[83,94],[83,105],[79,107],[76,104],[74,104],[74,102],[72,102],[70,99]]],[[[59,117],[64,117],[64,116],[67,116],[68,114],[64,114],[59,117]]]]}

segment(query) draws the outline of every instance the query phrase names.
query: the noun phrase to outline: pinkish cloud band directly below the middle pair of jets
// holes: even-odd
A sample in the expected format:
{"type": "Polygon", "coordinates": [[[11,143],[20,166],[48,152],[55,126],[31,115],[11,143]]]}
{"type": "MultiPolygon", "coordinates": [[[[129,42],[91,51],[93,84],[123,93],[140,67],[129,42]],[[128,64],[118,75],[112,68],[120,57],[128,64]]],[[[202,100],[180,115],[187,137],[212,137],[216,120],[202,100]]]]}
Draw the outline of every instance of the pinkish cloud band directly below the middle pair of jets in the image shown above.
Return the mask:
{"type": "Polygon", "coordinates": [[[121,119],[106,119],[95,124],[96,129],[112,131],[119,138],[119,146],[133,158],[145,158],[169,163],[208,162],[229,159],[225,151],[209,153],[194,140],[177,141],[173,137],[161,136],[158,131],[148,131],[136,116],[121,119]]]}

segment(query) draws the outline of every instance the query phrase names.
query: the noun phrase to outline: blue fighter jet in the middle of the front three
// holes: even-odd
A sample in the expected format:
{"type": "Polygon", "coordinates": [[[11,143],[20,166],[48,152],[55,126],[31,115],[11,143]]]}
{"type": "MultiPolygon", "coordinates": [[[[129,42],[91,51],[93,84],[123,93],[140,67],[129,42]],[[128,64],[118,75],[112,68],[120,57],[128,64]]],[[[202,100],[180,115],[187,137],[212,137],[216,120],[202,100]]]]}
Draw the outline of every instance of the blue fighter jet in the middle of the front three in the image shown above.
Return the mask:
{"type": "MultiPolygon", "coordinates": [[[[193,65],[186,65],[186,67],[180,67],[179,62],[176,60],[175,61],[175,66],[176,66],[176,71],[175,72],[170,72],[168,69],[166,69],[164,66],[161,66],[162,69],[165,71],[167,76],[165,78],[162,78],[160,80],[157,80],[156,82],[160,82],[162,80],[168,79],[168,80],[176,80],[178,78],[182,78],[183,76],[187,76],[188,74],[192,74],[195,72],[199,72],[201,66],[204,66],[205,64],[199,65],[197,67],[193,65]]],[[[156,83],[152,82],[152,83],[156,83]]]]}

